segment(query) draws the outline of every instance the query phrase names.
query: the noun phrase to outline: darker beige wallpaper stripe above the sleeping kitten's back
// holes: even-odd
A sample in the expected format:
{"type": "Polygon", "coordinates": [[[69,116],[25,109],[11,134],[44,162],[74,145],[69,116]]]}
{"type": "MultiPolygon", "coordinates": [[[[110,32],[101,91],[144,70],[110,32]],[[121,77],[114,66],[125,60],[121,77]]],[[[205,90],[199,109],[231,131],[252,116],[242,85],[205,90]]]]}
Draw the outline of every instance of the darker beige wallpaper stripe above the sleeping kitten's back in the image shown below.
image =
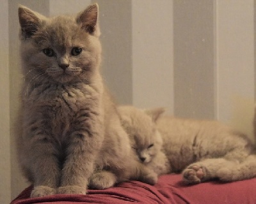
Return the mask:
{"type": "Polygon", "coordinates": [[[174,1],[174,113],[214,119],[214,3],[174,1]]]}

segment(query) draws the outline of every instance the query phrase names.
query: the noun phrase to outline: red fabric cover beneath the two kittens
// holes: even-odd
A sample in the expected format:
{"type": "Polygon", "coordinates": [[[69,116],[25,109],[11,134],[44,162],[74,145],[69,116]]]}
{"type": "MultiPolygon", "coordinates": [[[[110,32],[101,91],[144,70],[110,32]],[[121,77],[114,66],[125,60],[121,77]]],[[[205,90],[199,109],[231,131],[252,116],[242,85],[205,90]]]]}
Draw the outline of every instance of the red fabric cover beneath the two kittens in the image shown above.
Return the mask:
{"type": "Polygon", "coordinates": [[[84,203],[256,203],[256,179],[231,183],[205,182],[194,186],[182,184],[180,175],[163,175],[155,186],[142,182],[125,182],[105,190],[89,190],[86,195],[58,194],[29,198],[32,187],[25,189],[11,204],[84,204],[84,203]]]}

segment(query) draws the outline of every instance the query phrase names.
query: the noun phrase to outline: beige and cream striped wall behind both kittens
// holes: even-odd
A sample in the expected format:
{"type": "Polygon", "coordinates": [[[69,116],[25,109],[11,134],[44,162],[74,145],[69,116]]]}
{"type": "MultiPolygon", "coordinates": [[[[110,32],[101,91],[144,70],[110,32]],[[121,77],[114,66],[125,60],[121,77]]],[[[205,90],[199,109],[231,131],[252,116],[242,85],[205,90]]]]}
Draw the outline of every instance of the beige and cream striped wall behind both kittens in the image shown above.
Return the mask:
{"type": "Polygon", "coordinates": [[[57,15],[99,3],[102,73],[119,103],[164,106],[179,117],[218,119],[252,137],[253,0],[1,2],[0,203],[8,203],[28,186],[19,173],[10,129],[21,80],[18,4],[57,15]]]}

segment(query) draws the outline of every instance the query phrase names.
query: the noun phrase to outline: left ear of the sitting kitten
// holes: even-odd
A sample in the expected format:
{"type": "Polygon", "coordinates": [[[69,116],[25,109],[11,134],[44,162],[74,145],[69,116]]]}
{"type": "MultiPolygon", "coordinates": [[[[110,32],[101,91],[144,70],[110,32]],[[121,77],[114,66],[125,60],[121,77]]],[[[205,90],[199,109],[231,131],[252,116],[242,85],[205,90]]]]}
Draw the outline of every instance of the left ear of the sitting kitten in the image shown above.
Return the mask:
{"type": "Polygon", "coordinates": [[[21,35],[24,39],[30,38],[42,24],[42,15],[35,11],[19,6],[19,22],[21,27],[21,35]]]}

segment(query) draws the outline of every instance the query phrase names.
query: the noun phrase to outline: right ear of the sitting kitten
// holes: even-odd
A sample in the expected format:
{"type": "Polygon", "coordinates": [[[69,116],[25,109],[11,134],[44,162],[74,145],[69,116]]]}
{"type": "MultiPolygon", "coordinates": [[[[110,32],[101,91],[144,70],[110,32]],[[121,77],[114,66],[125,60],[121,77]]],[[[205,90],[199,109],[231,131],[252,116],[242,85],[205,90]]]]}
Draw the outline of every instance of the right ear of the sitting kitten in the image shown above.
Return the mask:
{"type": "Polygon", "coordinates": [[[77,15],[76,21],[78,24],[82,24],[82,28],[94,35],[99,37],[99,25],[98,25],[98,13],[99,6],[98,4],[92,4],[86,8],[86,10],[82,11],[77,15]]]}

